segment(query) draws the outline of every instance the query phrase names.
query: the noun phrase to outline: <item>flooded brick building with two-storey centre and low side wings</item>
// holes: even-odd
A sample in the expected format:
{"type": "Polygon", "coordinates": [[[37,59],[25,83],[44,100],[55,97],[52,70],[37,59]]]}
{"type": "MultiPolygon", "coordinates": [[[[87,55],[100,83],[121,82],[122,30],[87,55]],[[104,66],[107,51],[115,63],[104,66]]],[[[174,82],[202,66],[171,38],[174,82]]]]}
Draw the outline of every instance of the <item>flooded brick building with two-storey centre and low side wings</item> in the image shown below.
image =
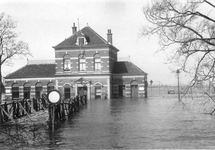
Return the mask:
{"type": "Polygon", "coordinates": [[[147,73],[130,61],[118,61],[118,49],[89,26],[54,46],[54,61],[29,61],[5,77],[6,98],[41,97],[58,89],[67,99],[87,95],[88,99],[147,97],[147,73]]]}

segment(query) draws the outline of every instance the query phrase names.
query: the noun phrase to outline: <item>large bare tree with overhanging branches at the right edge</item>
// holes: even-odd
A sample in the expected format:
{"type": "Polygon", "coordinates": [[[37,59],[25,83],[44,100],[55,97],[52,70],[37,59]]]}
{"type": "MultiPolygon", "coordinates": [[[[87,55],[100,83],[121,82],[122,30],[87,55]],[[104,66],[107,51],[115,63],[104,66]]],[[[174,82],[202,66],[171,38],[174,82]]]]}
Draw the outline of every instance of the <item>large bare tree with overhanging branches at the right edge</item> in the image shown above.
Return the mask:
{"type": "MultiPolygon", "coordinates": [[[[213,2],[214,3],[214,2],[213,2]]],[[[160,0],[143,7],[144,36],[159,36],[170,63],[191,75],[188,87],[215,75],[215,5],[208,0],[160,0]]]]}

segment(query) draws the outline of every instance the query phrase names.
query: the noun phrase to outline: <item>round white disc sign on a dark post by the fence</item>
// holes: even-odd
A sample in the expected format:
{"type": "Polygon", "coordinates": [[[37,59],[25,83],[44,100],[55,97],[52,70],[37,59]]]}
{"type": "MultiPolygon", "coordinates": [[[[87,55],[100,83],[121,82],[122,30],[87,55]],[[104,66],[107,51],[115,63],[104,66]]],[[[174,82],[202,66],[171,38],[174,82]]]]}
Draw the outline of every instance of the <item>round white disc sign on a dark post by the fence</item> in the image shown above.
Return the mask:
{"type": "Polygon", "coordinates": [[[52,131],[54,132],[54,124],[55,124],[55,104],[60,102],[61,94],[58,90],[52,90],[48,93],[48,102],[52,105],[52,112],[49,112],[49,118],[51,118],[50,123],[52,124],[52,131]],[[51,115],[52,113],[52,115],[51,115]],[[50,117],[52,116],[52,117],[50,117]]]}

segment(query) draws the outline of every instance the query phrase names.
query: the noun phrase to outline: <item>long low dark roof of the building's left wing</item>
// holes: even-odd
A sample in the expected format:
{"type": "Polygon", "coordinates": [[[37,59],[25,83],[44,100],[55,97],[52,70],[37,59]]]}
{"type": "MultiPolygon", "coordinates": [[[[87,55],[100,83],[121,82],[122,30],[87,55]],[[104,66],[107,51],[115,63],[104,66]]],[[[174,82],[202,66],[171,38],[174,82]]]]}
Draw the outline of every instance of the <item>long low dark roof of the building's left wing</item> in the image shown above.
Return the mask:
{"type": "Polygon", "coordinates": [[[7,75],[5,79],[54,77],[55,64],[30,64],[7,75]]]}

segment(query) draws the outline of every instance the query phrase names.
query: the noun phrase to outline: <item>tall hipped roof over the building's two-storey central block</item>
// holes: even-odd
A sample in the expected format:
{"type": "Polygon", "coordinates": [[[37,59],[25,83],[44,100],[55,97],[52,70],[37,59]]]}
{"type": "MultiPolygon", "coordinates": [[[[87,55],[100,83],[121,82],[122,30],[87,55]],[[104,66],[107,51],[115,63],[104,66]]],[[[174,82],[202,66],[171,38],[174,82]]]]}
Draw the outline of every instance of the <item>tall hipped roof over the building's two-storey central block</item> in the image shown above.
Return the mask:
{"type": "Polygon", "coordinates": [[[58,45],[54,46],[55,49],[62,48],[79,48],[80,46],[76,44],[78,35],[84,35],[88,44],[83,45],[82,47],[92,47],[92,46],[110,46],[108,42],[102,38],[98,33],[96,33],[89,26],[84,27],[80,31],[76,32],[69,38],[65,39],[58,45]]]}

